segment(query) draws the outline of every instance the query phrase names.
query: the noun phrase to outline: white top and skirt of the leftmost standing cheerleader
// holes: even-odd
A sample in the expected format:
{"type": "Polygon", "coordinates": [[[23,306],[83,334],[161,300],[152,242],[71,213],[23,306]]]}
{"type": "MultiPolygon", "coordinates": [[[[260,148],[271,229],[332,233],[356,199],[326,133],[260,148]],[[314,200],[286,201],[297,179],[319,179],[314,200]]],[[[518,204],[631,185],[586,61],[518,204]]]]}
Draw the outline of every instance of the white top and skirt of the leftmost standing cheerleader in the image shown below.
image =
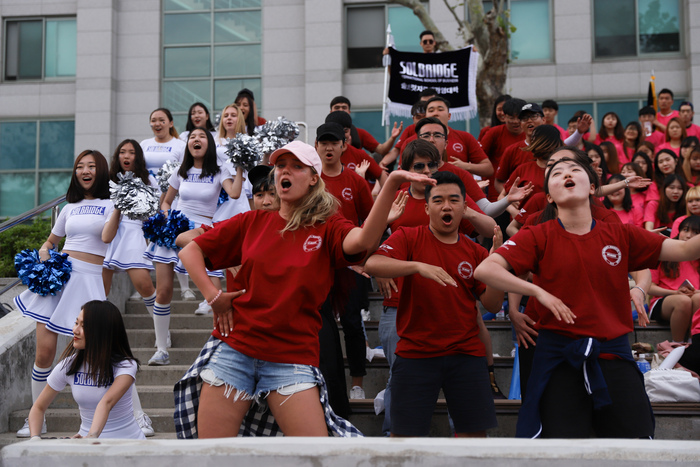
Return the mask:
{"type": "MultiPolygon", "coordinates": [[[[102,241],[102,230],[114,205],[109,199],[84,199],[66,205],[56,220],[51,233],[66,237],[64,250],[80,251],[104,256],[107,244],[102,241]]],[[[24,316],[28,316],[57,334],[73,335],[75,319],[82,306],[91,300],[105,300],[102,265],[69,258],[72,264],[68,282],[56,295],[42,297],[25,290],[14,302],[24,316]]]]}

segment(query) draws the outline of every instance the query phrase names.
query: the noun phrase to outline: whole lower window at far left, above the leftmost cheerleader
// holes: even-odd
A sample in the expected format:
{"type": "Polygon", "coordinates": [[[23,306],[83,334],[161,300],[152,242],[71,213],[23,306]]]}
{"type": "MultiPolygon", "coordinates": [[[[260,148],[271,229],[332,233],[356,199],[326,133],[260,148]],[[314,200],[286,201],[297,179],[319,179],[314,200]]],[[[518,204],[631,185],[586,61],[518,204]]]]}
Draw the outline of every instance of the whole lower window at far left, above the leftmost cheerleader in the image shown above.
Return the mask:
{"type": "Polygon", "coordinates": [[[0,122],[0,217],[16,216],[66,194],[75,122],[0,122]]]}

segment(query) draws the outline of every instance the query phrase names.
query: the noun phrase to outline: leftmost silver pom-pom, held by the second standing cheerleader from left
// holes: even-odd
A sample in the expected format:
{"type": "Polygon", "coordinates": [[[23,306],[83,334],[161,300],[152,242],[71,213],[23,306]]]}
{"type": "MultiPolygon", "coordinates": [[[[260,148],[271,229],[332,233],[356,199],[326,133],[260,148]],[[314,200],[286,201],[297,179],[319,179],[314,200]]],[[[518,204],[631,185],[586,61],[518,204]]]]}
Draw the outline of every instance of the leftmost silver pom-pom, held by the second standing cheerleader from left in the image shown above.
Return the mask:
{"type": "Polygon", "coordinates": [[[129,219],[146,220],[158,212],[158,189],[143,183],[133,172],[118,173],[118,182],[109,182],[114,207],[129,219]]]}

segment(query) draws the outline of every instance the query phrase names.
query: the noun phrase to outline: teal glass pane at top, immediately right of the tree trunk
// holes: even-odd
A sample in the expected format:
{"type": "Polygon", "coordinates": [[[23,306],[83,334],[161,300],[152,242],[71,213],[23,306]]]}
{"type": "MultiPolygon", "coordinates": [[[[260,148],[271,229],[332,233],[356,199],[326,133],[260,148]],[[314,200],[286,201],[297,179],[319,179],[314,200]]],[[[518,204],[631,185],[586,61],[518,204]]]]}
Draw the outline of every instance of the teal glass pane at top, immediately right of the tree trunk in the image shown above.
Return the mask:
{"type": "Polygon", "coordinates": [[[549,0],[511,1],[510,14],[517,28],[510,37],[511,56],[518,60],[549,60],[549,0]],[[537,29],[528,28],[536,24],[537,29]]]}

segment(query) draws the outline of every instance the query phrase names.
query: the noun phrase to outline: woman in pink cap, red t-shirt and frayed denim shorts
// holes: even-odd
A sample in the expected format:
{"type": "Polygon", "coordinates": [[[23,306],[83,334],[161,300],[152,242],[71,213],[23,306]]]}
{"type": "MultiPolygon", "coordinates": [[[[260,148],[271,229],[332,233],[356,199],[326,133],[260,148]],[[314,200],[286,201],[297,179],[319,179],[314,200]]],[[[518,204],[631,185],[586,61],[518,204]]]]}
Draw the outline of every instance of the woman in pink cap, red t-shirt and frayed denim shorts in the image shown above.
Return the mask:
{"type": "Polygon", "coordinates": [[[434,183],[394,171],[362,227],[337,214],[325,190],[321,159],[294,141],[273,152],[279,211],[249,211],[197,237],[181,252],[190,277],[214,310],[213,336],[221,341],[200,372],[200,438],[231,437],[253,399],[266,398],[287,436],[327,436],[316,375],[320,308],[333,270],[359,263],[386,228],[403,182],[434,183]],[[241,265],[234,290],[223,293],[205,265],[241,265]]]}

